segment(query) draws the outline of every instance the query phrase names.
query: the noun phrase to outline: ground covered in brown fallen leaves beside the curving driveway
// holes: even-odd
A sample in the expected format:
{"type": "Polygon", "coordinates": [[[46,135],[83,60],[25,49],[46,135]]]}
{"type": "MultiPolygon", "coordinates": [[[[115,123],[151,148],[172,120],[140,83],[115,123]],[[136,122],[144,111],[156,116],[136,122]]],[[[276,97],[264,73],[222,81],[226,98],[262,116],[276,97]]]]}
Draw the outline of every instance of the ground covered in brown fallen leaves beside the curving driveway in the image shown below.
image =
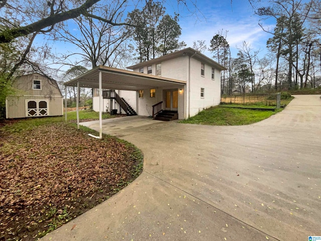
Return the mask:
{"type": "Polygon", "coordinates": [[[8,130],[0,127],[0,240],[36,240],[142,170],[142,154],[131,144],[94,139],[71,124],[8,130]]]}

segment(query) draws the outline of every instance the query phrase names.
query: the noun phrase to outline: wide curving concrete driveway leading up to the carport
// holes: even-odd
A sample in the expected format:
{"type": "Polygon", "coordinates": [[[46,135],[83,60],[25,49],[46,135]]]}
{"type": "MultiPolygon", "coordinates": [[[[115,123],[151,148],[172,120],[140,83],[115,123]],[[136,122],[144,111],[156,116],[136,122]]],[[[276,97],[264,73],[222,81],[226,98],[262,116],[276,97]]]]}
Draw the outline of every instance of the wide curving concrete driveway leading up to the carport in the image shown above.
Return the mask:
{"type": "Polygon", "coordinates": [[[249,126],[105,125],[104,132],[143,151],[143,173],[43,240],[301,241],[321,235],[320,95],[295,96],[282,112],[249,126]]]}

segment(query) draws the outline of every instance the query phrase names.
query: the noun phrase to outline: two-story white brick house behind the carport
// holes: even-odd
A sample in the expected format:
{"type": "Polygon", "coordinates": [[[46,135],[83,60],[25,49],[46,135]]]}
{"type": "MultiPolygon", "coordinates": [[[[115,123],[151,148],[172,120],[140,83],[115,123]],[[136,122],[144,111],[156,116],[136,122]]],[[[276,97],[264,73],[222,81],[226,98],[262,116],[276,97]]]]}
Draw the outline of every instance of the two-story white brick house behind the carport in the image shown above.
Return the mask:
{"type": "MultiPolygon", "coordinates": [[[[225,70],[224,66],[192,48],[127,67],[133,72],[99,67],[96,71],[106,76],[102,78],[103,88],[116,89],[115,92],[138,115],[148,116],[162,109],[177,111],[179,119],[186,119],[204,108],[218,105],[221,100],[220,77],[221,71],[225,70]],[[106,72],[109,72],[109,76],[104,74],[106,72]],[[111,72],[115,75],[111,76],[111,72]],[[160,106],[154,106],[157,103],[160,106]]],[[[78,80],[86,82],[85,78],[78,80]]],[[[73,82],[75,86],[75,81],[77,78],[70,81],[70,84],[73,82]]],[[[98,91],[94,96],[93,106],[98,111],[98,91]]],[[[122,110],[116,101],[109,105],[112,105],[110,109],[122,110]]],[[[105,103],[103,106],[105,110],[105,103]]]]}

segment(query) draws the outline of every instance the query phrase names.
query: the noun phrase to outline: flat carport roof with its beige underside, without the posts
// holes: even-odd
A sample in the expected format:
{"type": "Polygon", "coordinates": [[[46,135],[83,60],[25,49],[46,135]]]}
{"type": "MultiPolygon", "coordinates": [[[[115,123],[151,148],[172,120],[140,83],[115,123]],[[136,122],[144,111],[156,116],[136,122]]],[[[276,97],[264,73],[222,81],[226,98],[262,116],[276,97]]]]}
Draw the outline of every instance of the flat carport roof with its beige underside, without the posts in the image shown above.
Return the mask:
{"type": "Polygon", "coordinates": [[[107,66],[97,66],[83,75],[65,83],[66,86],[99,88],[99,72],[103,89],[139,90],[143,88],[179,88],[186,81],[164,78],[107,66]]]}

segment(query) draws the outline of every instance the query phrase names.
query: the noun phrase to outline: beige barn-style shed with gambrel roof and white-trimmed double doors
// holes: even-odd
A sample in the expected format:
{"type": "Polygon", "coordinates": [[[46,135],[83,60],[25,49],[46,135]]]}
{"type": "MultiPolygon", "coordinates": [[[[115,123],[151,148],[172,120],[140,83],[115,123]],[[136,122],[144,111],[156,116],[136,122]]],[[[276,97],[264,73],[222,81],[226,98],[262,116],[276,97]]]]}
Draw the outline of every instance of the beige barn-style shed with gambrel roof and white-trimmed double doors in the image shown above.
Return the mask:
{"type": "Polygon", "coordinates": [[[16,95],[6,97],[6,118],[63,115],[63,96],[55,80],[39,73],[17,78],[16,95]]]}

